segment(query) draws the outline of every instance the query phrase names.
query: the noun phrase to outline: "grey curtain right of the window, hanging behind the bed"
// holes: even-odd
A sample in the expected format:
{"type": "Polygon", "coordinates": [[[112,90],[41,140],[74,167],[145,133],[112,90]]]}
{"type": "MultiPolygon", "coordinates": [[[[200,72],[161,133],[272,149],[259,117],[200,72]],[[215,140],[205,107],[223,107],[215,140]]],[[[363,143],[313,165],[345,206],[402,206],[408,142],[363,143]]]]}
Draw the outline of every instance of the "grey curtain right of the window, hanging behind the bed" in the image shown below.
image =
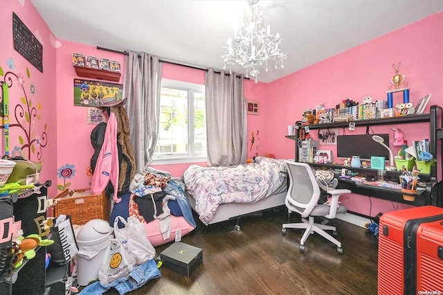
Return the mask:
{"type": "Polygon", "coordinates": [[[206,73],[205,89],[208,165],[246,163],[248,135],[243,75],[215,73],[210,68],[206,73]]]}

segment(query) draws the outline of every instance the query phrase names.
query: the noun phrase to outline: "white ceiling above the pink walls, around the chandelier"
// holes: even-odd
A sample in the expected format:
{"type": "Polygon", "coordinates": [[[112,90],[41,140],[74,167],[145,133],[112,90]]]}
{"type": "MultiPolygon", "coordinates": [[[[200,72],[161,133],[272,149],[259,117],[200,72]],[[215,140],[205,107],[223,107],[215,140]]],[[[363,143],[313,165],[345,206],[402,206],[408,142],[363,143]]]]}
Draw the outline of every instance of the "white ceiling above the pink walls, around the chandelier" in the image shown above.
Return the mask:
{"type": "MultiPolygon", "coordinates": [[[[246,0],[30,0],[57,39],[144,51],[162,60],[223,69],[220,55],[246,0]]],[[[260,0],[287,52],[271,82],[443,10],[442,0],[260,0]]],[[[244,73],[239,67],[233,71],[244,73]]]]}

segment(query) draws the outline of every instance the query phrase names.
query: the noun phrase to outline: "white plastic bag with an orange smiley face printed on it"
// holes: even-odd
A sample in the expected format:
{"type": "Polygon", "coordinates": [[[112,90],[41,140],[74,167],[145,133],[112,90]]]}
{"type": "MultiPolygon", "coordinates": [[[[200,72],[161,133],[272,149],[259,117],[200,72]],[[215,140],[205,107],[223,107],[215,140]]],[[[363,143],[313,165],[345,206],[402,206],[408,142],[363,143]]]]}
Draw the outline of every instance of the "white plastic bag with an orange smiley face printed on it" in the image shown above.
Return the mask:
{"type": "Polygon", "coordinates": [[[102,284],[110,284],[118,278],[126,278],[134,267],[134,258],[119,240],[113,238],[98,270],[98,279],[102,284]]]}

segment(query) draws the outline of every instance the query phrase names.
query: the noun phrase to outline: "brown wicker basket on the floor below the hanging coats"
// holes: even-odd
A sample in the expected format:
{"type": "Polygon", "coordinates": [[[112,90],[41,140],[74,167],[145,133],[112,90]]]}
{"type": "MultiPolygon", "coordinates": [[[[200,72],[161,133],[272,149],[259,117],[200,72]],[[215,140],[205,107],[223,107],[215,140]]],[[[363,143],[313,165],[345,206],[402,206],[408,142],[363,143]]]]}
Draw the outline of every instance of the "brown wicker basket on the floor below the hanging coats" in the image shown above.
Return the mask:
{"type": "Polygon", "coordinates": [[[93,195],[91,190],[64,190],[54,198],[54,216],[71,215],[73,224],[85,224],[98,218],[109,221],[109,199],[105,192],[93,195]]]}

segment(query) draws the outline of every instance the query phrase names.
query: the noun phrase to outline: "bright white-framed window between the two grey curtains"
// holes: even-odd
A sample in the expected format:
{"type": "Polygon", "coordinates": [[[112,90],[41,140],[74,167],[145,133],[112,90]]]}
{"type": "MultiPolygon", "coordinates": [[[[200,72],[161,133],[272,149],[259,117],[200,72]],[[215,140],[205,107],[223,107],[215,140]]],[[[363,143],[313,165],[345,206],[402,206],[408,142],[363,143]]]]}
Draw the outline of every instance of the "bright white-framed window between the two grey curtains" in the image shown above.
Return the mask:
{"type": "Polygon", "coordinates": [[[159,138],[154,163],[206,161],[204,85],[161,81],[159,138]]]}

